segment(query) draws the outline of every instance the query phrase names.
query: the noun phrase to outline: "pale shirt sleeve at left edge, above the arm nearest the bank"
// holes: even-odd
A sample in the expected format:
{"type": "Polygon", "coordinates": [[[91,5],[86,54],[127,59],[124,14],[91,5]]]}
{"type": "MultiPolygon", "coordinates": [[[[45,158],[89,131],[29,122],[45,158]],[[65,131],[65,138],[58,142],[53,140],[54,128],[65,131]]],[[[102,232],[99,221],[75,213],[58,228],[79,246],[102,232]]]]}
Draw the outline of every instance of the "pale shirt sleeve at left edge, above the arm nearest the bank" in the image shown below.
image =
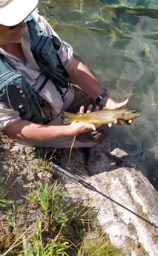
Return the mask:
{"type": "Polygon", "coordinates": [[[8,108],[3,102],[0,102],[0,134],[1,131],[11,123],[21,119],[18,111],[8,108]]]}

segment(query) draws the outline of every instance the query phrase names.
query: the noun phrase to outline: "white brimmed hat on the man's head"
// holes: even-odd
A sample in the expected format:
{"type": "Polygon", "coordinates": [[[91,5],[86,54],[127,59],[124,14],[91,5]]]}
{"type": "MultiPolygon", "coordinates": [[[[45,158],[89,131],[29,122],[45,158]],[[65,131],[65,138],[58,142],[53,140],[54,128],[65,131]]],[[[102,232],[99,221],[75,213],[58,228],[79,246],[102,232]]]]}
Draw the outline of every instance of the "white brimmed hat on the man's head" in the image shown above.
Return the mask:
{"type": "Polygon", "coordinates": [[[14,26],[36,8],[39,0],[0,0],[0,24],[14,26]]]}

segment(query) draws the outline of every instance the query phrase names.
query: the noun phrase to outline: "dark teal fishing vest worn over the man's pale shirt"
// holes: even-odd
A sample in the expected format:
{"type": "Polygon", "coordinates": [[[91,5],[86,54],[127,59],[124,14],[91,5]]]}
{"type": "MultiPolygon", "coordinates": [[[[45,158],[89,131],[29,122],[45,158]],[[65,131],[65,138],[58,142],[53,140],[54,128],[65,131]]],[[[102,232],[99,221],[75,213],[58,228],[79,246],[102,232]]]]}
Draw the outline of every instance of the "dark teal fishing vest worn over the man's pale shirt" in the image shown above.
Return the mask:
{"type": "MultiPolygon", "coordinates": [[[[46,77],[39,91],[45,86],[47,80],[51,79],[63,98],[62,88],[69,87],[70,77],[57,53],[61,42],[56,36],[43,33],[32,15],[28,16],[25,22],[29,30],[31,51],[46,77]]],[[[48,122],[38,93],[2,54],[0,54],[0,101],[4,102],[7,107],[19,111],[22,119],[36,123],[46,124],[48,122]],[[19,102],[19,107],[17,102],[19,102]]]]}

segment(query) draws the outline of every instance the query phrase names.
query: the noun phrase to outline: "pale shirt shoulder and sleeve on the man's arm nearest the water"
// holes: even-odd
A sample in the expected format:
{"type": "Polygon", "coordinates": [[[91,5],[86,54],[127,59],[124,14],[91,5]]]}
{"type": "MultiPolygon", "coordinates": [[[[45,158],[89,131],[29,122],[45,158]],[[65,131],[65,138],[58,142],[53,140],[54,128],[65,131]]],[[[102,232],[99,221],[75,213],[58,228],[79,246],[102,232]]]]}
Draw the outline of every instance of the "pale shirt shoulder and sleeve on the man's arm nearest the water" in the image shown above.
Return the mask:
{"type": "Polygon", "coordinates": [[[60,39],[58,34],[53,30],[53,28],[47,22],[45,17],[39,15],[38,9],[36,9],[32,14],[36,21],[39,23],[39,26],[41,27],[43,32],[47,33],[47,35],[56,36],[61,42],[61,47],[58,50],[58,54],[59,58],[62,61],[62,64],[64,65],[65,69],[67,69],[70,66],[70,63],[73,59],[73,47],[69,45],[67,42],[64,42],[62,41],[62,39],[60,39]]]}

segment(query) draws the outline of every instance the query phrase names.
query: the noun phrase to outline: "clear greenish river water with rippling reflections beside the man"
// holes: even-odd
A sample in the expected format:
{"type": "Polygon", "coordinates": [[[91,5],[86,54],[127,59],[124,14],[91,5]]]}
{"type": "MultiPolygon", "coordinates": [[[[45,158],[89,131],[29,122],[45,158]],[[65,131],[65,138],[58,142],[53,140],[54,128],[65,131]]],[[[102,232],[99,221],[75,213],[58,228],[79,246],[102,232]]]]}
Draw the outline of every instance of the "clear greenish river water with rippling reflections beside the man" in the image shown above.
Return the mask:
{"type": "Polygon", "coordinates": [[[111,134],[158,189],[158,1],[39,1],[39,10],[113,99],[142,116],[111,134]]]}

